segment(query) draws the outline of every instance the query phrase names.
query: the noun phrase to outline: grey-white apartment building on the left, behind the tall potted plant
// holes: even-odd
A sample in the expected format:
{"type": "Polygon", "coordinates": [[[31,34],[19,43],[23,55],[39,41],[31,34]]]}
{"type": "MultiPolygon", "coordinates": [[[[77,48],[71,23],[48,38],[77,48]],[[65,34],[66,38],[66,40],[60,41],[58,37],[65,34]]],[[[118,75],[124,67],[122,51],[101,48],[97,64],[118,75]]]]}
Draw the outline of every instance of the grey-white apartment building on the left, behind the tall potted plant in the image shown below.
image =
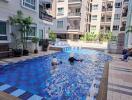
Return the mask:
{"type": "MultiPolygon", "coordinates": [[[[0,49],[12,44],[11,33],[17,33],[9,24],[9,16],[16,15],[21,10],[25,17],[33,19],[32,32],[27,35],[28,39],[37,36],[40,39],[48,38],[48,30],[52,25],[52,16],[49,15],[50,0],[0,0],[0,49]]],[[[31,41],[29,48],[31,48],[31,41]]],[[[12,45],[13,46],[13,45],[12,45]]]]}

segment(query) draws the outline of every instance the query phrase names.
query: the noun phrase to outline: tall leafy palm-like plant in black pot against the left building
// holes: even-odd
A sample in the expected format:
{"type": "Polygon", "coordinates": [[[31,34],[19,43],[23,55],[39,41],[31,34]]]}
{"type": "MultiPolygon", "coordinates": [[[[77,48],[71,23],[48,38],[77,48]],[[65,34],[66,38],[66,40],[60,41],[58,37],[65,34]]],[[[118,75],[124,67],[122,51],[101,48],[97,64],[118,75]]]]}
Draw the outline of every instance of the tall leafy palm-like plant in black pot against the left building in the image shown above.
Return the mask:
{"type": "Polygon", "coordinates": [[[27,56],[29,54],[27,50],[27,34],[31,31],[32,18],[30,16],[25,18],[22,11],[17,11],[15,16],[9,16],[9,22],[20,32],[20,35],[17,36],[20,36],[21,44],[23,45],[22,53],[27,56]]]}

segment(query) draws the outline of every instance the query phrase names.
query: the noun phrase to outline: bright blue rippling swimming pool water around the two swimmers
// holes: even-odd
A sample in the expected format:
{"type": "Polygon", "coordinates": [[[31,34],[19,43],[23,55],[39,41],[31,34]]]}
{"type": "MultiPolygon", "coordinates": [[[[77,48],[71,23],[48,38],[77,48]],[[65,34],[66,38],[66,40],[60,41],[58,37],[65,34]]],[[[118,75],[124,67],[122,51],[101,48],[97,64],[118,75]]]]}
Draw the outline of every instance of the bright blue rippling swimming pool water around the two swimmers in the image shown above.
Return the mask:
{"type": "Polygon", "coordinates": [[[110,59],[110,56],[92,50],[64,50],[6,65],[0,71],[0,82],[37,94],[46,100],[85,100],[93,80],[99,72],[103,72],[105,62],[110,59]],[[71,65],[68,62],[70,52],[84,61],[71,65]],[[53,56],[62,61],[55,70],[51,66],[53,56]]]}

